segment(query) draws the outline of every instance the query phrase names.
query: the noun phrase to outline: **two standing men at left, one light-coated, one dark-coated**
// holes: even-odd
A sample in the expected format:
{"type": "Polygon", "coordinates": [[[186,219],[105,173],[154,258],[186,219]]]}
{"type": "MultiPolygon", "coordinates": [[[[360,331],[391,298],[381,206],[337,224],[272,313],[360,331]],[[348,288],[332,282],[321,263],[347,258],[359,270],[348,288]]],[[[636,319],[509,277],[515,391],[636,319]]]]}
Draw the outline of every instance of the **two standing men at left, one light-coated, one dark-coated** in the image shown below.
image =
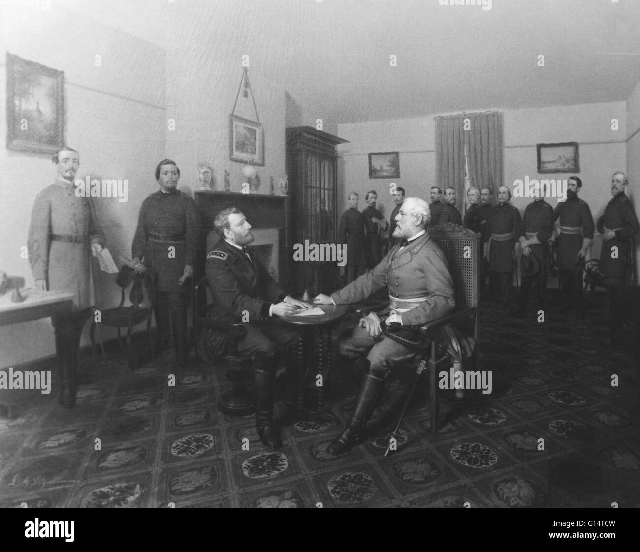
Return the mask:
{"type": "MultiPolygon", "coordinates": [[[[93,198],[76,193],[77,150],[63,146],[52,162],[56,177],[36,196],[27,248],[37,290],[74,294],[72,312],[51,320],[60,378],[58,402],[73,408],[80,339],[95,304],[89,255],[100,255],[106,239],[93,198]]],[[[173,334],[177,364],[184,367],[188,362],[189,281],[196,256],[196,204],[177,191],[180,170],[174,161],[159,162],[155,174],[160,189],[140,207],[130,266],[138,273],[151,274],[161,346],[168,345],[173,334]]]]}

